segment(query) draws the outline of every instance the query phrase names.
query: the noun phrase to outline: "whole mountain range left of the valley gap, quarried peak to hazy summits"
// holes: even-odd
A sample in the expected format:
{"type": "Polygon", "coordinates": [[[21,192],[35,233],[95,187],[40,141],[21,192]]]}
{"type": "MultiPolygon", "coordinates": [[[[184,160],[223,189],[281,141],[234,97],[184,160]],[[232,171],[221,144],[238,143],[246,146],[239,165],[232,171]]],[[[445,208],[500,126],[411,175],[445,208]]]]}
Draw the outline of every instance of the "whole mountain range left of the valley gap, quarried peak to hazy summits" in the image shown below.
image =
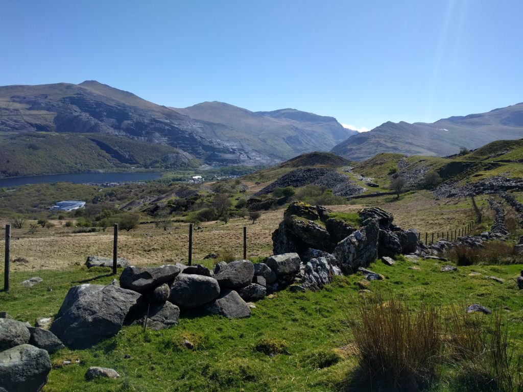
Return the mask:
{"type": "Polygon", "coordinates": [[[207,164],[252,166],[330,149],[355,133],[332,117],[294,109],[255,113],[221,102],[168,108],[94,80],[0,87],[0,131],[105,134],[170,146],[207,164]]]}

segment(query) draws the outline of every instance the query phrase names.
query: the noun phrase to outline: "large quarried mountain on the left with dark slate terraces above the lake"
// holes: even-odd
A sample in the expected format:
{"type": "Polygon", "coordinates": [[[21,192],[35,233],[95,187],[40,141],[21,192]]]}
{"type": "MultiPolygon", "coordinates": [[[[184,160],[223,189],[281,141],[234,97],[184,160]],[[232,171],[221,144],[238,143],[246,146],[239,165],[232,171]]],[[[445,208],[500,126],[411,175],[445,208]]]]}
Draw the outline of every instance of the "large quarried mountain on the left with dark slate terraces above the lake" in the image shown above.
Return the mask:
{"type": "Polygon", "coordinates": [[[210,125],[93,80],[79,85],[0,87],[0,131],[104,133],[170,145],[207,163],[272,163],[210,125]]]}

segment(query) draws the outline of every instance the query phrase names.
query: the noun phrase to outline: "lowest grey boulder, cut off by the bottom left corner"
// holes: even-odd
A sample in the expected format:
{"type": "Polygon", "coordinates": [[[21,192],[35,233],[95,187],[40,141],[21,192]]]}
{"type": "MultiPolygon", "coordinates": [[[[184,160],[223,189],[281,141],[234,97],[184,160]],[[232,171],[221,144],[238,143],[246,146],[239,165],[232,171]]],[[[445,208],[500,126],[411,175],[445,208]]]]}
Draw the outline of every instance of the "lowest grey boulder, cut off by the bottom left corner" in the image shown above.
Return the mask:
{"type": "Polygon", "coordinates": [[[33,345],[20,344],[0,352],[0,392],[38,392],[50,371],[49,353],[33,345]]]}

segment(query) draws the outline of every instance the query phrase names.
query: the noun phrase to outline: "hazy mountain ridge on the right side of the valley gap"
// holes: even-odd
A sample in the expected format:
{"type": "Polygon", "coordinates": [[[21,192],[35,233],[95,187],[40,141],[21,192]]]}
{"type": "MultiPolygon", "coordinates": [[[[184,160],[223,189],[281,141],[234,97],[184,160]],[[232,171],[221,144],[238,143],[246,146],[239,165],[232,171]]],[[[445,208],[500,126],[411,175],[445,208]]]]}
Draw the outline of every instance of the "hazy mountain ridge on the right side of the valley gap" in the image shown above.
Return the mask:
{"type": "Polygon", "coordinates": [[[501,139],[523,137],[523,103],[487,113],[449,117],[434,123],[385,122],[350,136],[331,151],[347,159],[363,160],[378,153],[445,156],[460,147],[470,149],[501,139]]]}

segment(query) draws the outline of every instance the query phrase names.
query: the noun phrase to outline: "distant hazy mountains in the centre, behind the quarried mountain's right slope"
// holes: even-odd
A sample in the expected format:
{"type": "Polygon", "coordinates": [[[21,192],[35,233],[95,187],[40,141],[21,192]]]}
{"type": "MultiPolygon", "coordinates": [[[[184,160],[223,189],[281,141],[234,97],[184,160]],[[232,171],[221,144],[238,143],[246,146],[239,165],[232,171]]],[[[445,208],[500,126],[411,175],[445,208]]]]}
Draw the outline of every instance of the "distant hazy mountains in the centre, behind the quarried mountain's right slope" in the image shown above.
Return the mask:
{"type": "Polygon", "coordinates": [[[225,139],[241,141],[280,160],[319,149],[327,151],[355,133],[333,117],[295,109],[252,112],[215,101],[174,110],[194,119],[223,124],[219,132],[225,139]]]}

